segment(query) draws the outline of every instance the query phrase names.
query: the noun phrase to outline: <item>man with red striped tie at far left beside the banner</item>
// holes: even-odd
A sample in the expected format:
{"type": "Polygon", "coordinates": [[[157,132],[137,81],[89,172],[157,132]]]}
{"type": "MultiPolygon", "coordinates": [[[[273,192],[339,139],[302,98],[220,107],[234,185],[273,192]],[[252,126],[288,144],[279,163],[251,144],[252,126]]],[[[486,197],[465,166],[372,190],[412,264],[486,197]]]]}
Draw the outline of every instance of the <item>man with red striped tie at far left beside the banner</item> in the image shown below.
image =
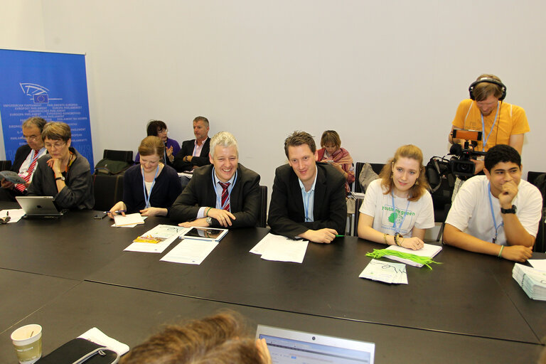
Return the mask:
{"type": "Polygon", "coordinates": [[[19,146],[15,152],[14,164],[11,171],[18,173],[26,183],[14,184],[6,179],[2,179],[0,191],[0,200],[13,200],[16,196],[25,196],[26,188],[31,184],[38,158],[46,153],[43,147],[42,130],[47,123],[41,117],[30,117],[23,122],[21,127],[23,138],[27,144],[19,146]]]}

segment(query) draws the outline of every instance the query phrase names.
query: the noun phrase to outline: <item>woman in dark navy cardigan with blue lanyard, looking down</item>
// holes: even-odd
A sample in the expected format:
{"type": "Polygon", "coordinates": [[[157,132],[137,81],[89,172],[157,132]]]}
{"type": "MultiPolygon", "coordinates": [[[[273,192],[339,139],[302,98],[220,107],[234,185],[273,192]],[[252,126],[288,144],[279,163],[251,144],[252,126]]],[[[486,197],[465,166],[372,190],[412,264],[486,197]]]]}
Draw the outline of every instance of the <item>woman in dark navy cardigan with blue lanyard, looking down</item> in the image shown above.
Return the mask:
{"type": "Polygon", "coordinates": [[[127,171],[123,177],[123,200],[116,203],[108,215],[113,218],[116,211],[141,213],[144,216],[168,216],[174,200],[182,192],[178,173],[174,168],[161,163],[165,144],[159,137],[146,137],[139,146],[139,164],[127,171]]]}

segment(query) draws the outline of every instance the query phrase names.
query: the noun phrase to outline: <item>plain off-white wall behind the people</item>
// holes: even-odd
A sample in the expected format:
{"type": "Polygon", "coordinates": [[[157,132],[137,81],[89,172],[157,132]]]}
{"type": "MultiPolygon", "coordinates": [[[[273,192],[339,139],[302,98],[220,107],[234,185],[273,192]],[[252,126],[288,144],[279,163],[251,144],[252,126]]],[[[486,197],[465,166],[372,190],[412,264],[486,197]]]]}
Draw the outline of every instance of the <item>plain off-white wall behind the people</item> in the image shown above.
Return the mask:
{"type": "Polygon", "coordinates": [[[192,139],[197,115],[211,136],[235,134],[240,161],[269,188],[296,129],[316,141],[336,129],[355,161],[384,162],[407,143],[429,159],[446,154],[469,84],[493,73],[528,114],[524,170],[546,171],[543,1],[0,0],[0,10],[0,48],[87,54],[95,161],[136,151],[149,119],[192,139]]]}

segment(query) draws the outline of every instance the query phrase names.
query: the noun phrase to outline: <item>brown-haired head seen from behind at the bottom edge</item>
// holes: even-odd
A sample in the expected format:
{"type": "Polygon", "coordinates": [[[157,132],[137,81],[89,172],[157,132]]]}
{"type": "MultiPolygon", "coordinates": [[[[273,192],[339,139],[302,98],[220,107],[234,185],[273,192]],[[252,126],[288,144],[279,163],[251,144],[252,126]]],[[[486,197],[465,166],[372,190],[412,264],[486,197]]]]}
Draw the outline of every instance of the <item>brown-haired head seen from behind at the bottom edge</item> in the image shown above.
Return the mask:
{"type": "Polygon", "coordinates": [[[168,326],[135,346],[122,364],[271,363],[264,340],[251,338],[239,315],[221,313],[168,326]]]}

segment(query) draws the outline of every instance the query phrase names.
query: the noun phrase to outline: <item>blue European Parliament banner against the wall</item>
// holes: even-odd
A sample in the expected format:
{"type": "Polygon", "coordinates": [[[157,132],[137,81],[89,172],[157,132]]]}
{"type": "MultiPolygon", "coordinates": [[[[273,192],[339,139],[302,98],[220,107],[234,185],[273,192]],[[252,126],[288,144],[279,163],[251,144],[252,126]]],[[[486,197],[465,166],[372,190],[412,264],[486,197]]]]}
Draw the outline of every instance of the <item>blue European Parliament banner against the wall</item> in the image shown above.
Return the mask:
{"type": "Polygon", "coordinates": [[[70,125],[72,146],[93,168],[85,55],[0,49],[0,75],[6,159],[26,144],[23,121],[38,116],[70,125]]]}

